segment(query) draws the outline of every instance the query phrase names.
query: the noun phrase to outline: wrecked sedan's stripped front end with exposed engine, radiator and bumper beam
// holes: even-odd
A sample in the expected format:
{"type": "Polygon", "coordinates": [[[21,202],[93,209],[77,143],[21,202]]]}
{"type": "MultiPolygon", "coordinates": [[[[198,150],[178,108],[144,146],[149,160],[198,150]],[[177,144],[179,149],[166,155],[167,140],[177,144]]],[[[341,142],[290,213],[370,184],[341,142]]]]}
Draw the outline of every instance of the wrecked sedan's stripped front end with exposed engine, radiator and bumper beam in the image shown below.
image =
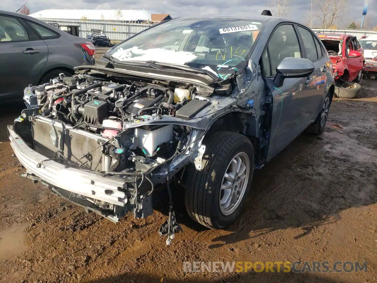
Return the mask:
{"type": "Polygon", "coordinates": [[[8,126],[23,176],[112,221],[149,216],[153,192],[189,163],[200,170],[211,124],[252,111],[236,98],[203,97],[208,88],[199,85],[164,83],[84,69],[27,87],[27,108],[8,126]]]}

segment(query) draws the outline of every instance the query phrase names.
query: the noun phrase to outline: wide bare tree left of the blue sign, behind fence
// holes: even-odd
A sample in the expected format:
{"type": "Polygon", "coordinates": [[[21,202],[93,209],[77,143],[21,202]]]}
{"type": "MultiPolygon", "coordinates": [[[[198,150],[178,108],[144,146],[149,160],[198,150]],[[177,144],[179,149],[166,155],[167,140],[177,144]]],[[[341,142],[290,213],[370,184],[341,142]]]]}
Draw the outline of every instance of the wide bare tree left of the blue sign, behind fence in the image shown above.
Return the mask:
{"type": "Polygon", "coordinates": [[[313,0],[312,13],[320,20],[321,28],[334,26],[337,17],[344,10],[347,0],[313,0]]]}

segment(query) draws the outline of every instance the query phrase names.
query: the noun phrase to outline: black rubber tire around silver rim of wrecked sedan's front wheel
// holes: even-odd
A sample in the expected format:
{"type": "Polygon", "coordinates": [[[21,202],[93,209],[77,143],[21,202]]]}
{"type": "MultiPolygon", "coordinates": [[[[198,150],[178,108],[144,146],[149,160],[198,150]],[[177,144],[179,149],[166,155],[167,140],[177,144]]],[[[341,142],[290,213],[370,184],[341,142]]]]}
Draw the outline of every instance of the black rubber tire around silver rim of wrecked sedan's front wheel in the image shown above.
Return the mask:
{"type": "Polygon", "coordinates": [[[190,217],[211,229],[230,225],[239,215],[249,194],[254,172],[254,150],[251,141],[241,134],[221,131],[204,141],[206,146],[201,171],[190,164],[184,192],[185,206],[190,217]],[[230,161],[244,152],[250,161],[249,177],[244,195],[236,209],[224,215],[220,209],[221,185],[230,161]]]}

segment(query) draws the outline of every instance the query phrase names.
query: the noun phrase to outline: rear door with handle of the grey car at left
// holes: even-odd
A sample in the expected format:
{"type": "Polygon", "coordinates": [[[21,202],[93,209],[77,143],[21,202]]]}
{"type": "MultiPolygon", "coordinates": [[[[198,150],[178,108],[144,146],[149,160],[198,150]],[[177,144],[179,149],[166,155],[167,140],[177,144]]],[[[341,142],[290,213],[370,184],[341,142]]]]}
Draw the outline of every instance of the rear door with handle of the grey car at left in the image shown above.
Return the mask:
{"type": "Polygon", "coordinates": [[[48,60],[48,46],[22,18],[0,14],[0,99],[14,99],[34,82],[48,60]]]}

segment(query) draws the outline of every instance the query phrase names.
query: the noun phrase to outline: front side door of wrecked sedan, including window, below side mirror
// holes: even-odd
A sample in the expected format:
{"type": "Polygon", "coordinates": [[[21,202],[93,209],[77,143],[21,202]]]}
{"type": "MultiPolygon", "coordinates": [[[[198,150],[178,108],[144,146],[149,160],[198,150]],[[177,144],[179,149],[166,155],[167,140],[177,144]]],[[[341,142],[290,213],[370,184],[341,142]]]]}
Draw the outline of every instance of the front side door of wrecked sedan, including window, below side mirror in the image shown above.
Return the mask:
{"type": "Polygon", "coordinates": [[[291,24],[277,26],[261,58],[263,75],[273,97],[267,161],[305,129],[308,115],[308,109],[304,107],[303,101],[311,93],[310,77],[286,78],[279,88],[274,84],[276,68],[286,57],[303,57],[296,29],[291,24]]]}

